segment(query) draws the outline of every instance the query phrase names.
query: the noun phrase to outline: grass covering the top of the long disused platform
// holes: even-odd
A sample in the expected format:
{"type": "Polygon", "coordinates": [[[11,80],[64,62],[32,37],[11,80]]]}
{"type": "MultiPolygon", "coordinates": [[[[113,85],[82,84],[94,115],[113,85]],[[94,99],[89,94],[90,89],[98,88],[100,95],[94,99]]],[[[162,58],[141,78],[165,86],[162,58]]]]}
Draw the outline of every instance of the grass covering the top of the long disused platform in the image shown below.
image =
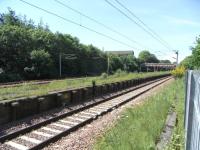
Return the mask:
{"type": "Polygon", "coordinates": [[[81,86],[90,86],[92,81],[95,80],[96,84],[104,84],[117,82],[122,80],[134,79],[139,77],[148,77],[154,75],[165,74],[166,72],[153,72],[153,73],[121,73],[108,76],[103,78],[101,76],[97,77],[86,77],[78,79],[64,79],[59,81],[53,81],[50,84],[45,85],[31,85],[30,83],[24,83],[19,87],[9,87],[0,89],[0,101],[14,99],[19,97],[29,97],[36,95],[44,95],[51,91],[59,91],[70,88],[77,88],[81,86]]]}

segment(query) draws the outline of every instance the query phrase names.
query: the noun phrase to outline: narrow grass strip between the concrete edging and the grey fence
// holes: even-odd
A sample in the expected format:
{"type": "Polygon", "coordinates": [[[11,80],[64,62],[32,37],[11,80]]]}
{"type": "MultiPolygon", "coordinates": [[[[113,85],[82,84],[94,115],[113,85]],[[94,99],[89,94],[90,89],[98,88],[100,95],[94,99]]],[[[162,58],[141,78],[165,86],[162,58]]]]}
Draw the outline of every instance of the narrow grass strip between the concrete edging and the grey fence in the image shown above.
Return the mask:
{"type": "Polygon", "coordinates": [[[179,79],[180,84],[177,84],[177,102],[174,104],[177,113],[177,125],[173,132],[173,137],[168,150],[184,150],[184,99],[185,99],[185,84],[183,80],[179,79]]]}

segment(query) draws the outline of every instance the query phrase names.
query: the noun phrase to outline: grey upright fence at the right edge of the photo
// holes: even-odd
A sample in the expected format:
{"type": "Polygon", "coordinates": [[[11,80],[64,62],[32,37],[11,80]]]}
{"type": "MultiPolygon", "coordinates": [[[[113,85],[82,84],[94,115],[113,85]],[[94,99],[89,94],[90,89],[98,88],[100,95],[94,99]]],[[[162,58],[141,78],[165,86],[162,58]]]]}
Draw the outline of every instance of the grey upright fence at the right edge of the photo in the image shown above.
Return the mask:
{"type": "Polygon", "coordinates": [[[186,74],[185,149],[200,150],[200,71],[186,74]]]}

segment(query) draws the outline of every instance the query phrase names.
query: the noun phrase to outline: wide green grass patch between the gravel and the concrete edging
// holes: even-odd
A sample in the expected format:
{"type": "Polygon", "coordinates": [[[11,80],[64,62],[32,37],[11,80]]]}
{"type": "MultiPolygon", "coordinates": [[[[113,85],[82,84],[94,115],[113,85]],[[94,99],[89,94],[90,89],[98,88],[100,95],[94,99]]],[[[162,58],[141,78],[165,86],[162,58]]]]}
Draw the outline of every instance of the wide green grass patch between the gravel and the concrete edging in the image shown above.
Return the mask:
{"type": "Polygon", "coordinates": [[[179,84],[175,81],[144,104],[126,109],[114,126],[97,139],[94,149],[154,150],[179,84]]]}

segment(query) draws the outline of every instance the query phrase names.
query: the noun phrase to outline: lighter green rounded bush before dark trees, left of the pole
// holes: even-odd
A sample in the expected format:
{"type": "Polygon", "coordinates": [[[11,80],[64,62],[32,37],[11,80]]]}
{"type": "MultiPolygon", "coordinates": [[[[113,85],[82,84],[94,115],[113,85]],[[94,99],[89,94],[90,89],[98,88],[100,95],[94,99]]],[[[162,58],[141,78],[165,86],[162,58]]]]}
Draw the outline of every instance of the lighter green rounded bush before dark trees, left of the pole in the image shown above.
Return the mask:
{"type": "Polygon", "coordinates": [[[31,52],[32,68],[37,78],[47,78],[50,76],[52,59],[45,50],[33,50],[31,52]]]}

